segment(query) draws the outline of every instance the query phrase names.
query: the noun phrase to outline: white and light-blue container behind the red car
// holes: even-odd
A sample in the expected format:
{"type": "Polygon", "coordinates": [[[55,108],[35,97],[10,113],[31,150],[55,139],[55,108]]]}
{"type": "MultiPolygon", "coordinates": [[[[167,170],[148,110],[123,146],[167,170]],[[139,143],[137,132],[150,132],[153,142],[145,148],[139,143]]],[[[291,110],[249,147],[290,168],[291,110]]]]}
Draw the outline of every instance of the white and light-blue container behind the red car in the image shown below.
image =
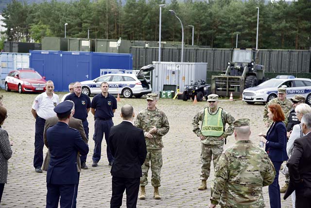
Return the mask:
{"type": "Polygon", "coordinates": [[[26,53],[0,53],[0,86],[4,88],[5,77],[17,68],[29,67],[29,54],[26,53]]]}

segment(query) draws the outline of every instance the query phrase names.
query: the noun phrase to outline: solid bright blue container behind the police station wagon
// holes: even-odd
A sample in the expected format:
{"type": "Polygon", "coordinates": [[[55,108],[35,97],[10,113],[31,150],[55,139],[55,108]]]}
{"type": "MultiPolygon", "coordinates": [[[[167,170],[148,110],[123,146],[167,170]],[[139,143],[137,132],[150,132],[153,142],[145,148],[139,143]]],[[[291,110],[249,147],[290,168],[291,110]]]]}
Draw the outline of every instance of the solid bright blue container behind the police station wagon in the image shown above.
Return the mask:
{"type": "Polygon", "coordinates": [[[55,91],[68,91],[70,82],[91,80],[100,69],[132,70],[132,54],[70,51],[30,51],[30,66],[47,80],[55,91]]]}

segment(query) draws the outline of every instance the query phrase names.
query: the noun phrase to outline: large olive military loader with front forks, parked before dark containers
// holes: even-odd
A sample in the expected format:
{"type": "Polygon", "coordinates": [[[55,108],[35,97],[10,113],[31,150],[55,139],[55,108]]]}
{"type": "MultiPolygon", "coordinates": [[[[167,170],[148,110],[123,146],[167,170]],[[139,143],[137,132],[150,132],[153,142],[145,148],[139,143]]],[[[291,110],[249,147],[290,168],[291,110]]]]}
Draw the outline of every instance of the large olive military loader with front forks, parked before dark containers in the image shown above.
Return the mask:
{"type": "Polygon", "coordinates": [[[212,76],[212,93],[219,96],[240,96],[249,87],[265,81],[264,66],[256,63],[256,50],[234,49],[225,74],[212,76]]]}

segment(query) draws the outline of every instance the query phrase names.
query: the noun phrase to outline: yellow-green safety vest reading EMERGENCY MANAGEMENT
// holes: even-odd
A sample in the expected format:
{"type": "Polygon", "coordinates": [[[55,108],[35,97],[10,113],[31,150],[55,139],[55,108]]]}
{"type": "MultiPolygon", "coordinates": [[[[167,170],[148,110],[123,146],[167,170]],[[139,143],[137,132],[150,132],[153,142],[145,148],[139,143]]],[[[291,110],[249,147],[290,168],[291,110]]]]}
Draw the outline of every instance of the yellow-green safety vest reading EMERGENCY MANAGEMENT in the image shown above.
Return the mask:
{"type": "Polygon", "coordinates": [[[214,115],[210,114],[208,110],[208,107],[204,109],[201,133],[204,136],[221,136],[225,132],[222,119],[223,109],[218,108],[214,115]]]}

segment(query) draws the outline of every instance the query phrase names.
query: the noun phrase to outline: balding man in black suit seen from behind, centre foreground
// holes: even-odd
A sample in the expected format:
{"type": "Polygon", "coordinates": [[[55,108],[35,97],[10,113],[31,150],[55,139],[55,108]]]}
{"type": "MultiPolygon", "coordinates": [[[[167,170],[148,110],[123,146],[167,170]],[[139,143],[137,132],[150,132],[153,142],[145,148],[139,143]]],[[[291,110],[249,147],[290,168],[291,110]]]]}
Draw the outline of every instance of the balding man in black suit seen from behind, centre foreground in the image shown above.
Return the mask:
{"type": "Polygon", "coordinates": [[[124,189],[126,189],[126,207],[136,208],[141,165],[147,155],[145,136],[141,129],[133,126],[135,117],[133,107],[121,108],[121,124],[111,128],[109,133],[110,151],[115,158],[111,168],[112,197],[110,208],[120,208],[124,189]]]}

